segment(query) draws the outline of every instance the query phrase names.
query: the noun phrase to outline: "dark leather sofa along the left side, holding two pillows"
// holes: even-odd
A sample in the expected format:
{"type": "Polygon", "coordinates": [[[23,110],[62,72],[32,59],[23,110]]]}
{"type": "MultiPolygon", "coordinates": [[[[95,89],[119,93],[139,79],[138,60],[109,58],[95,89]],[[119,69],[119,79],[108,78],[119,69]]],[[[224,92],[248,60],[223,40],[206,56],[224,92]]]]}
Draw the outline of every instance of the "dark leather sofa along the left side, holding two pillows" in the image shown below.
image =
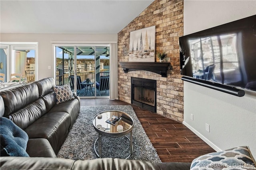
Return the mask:
{"type": "Polygon", "coordinates": [[[80,111],[80,98],[56,104],[53,78],[0,93],[0,116],[28,134],[30,157],[56,157],[80,111]]]}

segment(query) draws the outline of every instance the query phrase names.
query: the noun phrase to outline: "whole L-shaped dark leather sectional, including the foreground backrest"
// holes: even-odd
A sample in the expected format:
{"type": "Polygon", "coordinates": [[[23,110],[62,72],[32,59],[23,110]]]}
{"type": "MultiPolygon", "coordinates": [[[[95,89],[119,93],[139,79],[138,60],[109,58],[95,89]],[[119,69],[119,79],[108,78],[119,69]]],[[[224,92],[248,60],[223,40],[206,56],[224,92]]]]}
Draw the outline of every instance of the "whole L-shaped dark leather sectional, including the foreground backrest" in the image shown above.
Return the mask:
{"type": "MultiPolygon", "coordinates": [[[[150,163],[139,160],[56,158],[80,111],[80,98],[56,104],[53,78],[45,78],[0,93],[0,116],[11,119],[28,134],[30,157],[1,156],[0,169],[65,170],[189,170],[190,163],[150,163]]],[[[2,146],[1,146],[2,148],[2,146]]]]}

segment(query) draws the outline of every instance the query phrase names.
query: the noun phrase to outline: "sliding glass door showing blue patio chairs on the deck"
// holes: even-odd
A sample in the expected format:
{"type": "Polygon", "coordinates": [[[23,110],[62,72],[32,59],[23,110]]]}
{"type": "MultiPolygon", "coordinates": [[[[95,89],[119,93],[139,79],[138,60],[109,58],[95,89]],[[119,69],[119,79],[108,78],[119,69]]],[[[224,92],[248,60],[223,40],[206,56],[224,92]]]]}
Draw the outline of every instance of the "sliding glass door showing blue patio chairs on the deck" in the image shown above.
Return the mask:
{"type": "Polygon", "coordinates": [[[109,45],[55,45],[54,49],[57,85],[69,84],[81,98],[109,97],[109,45]]]}

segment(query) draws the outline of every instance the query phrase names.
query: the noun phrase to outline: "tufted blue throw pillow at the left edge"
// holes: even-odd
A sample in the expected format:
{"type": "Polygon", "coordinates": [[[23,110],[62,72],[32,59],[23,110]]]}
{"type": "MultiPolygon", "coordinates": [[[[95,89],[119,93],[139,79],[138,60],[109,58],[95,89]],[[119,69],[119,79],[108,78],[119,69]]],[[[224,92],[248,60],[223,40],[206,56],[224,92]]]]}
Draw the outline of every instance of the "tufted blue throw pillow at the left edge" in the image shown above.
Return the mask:
{"type": "Polygon", "coordinates": [[[26,156],[28,134],[6,117],[0,117],[0,156],[26,156]]]}

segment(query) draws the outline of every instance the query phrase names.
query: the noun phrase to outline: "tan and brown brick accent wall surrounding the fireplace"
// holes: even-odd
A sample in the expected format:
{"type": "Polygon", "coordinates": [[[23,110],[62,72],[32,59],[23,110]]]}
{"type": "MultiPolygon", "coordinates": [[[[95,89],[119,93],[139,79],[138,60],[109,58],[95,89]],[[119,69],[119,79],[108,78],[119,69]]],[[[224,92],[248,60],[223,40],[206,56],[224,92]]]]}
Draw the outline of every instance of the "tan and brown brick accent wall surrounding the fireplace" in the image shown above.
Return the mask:
{"type": "MultiPolygon", "coordinates": [[[[157,113],[183,121],[183,81],[180,75],[179,37],[183,35],[183,1],[155,0],[137,18],[118,33],[118,98],[131,103],[131,77],[157,80],[157,113]],[[166,77],[148,71],[124,73],[119,62],[128,62],[122,54],[129,47],[130,31],[156,25],[156,53],[166,51],[171,70],[166,77]]],[[[158,60],[156,60],[158,61],[158,60]]]]}

